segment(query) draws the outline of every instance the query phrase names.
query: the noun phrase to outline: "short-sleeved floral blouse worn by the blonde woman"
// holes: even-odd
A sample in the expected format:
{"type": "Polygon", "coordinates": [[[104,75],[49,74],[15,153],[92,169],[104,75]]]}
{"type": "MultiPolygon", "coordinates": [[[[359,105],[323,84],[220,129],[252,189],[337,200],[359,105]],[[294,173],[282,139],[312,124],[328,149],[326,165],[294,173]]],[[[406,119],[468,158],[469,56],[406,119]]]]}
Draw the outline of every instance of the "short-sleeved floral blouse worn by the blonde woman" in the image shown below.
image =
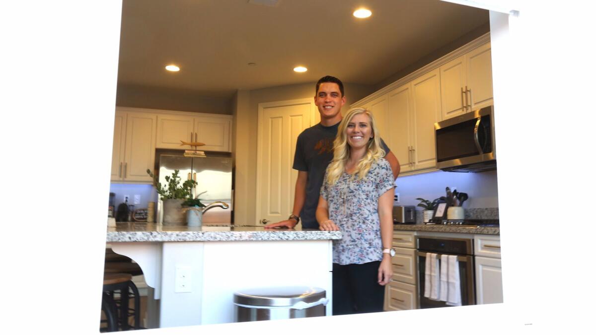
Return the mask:
{"type": "Polygon", "coordinates": [[[335,185],[327,183],[329,168],[321,187],[327,201],[329,219],[342,231],[333,240],[333,262],[340,265],[363,264],[383,259],[378,198],[393,187],[393,173],[386,159],[374,162],[366,178],[344,172],[335,185]]]}

